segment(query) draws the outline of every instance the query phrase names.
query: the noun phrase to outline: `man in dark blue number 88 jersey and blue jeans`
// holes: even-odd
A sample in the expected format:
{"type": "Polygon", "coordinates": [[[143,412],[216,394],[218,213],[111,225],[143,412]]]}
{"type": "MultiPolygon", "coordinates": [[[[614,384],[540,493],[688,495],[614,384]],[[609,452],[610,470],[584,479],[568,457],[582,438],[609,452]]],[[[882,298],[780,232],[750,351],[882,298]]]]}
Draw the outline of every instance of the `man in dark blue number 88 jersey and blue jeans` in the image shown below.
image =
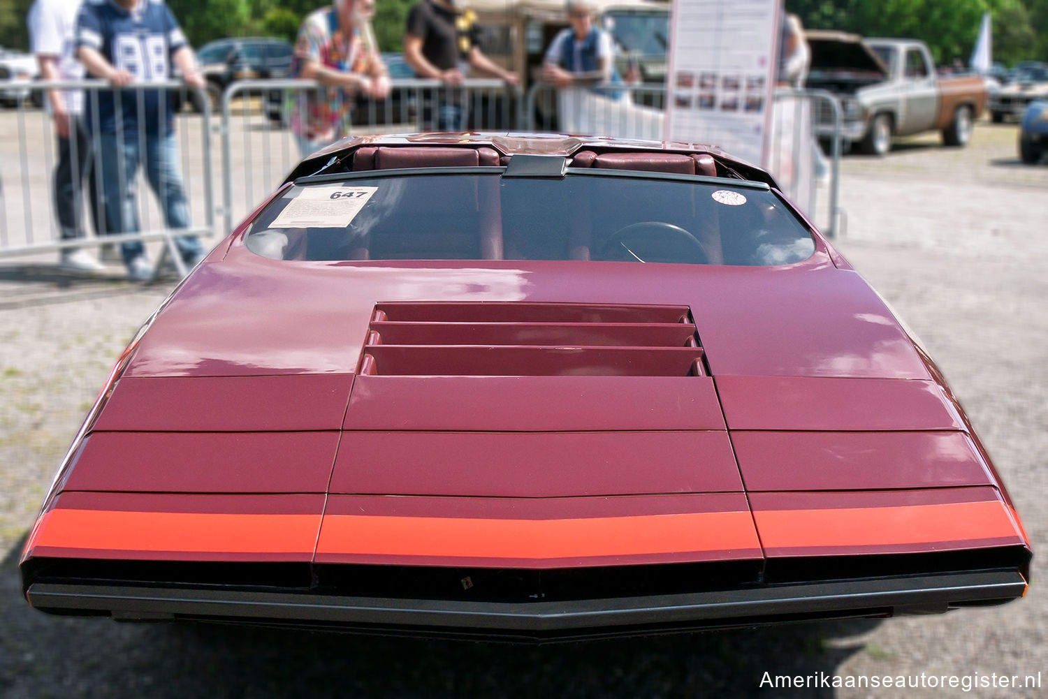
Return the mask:
{"type": "MultiPolygon", "coordinates": [[[[205,87],[193,49],[162,0],[88,0],[77,20],[75,45],[87,71],[117,88],[165,82],[172,65],[181,71],[187,85],[205,87]]],[[[102,189],[111,233],[138,231],[135,176],[143,162],[160,201],[165,225],[188,228],[189,203],[178,167],[170,94],[141,88],[100,92],[97,109],[92,105],[87,116],[100,136],[102,189]]],[[[175,245],[188,266],[204,257],[196,236],[176,237],[175,245]]],[[[140,241],[123,243],[121,253],[131,279],[152,279],[153,263],[140,241]]]]}

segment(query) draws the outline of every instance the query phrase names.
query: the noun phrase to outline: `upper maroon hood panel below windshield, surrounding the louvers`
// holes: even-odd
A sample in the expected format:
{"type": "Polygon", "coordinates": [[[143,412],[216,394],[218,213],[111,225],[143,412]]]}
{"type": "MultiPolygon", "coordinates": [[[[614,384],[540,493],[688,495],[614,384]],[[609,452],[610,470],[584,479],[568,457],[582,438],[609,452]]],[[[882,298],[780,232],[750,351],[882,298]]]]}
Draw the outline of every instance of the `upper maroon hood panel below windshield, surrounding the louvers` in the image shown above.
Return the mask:
{"type": "Polygon", "coordinates": [[[240,244],[178,289],[125,376],[354,374],[376,304],[405,302],[679,306],[714,376],[931,378],[883,301],[824,250],[785,267],[730,267],[301,262],[240,244]]]}

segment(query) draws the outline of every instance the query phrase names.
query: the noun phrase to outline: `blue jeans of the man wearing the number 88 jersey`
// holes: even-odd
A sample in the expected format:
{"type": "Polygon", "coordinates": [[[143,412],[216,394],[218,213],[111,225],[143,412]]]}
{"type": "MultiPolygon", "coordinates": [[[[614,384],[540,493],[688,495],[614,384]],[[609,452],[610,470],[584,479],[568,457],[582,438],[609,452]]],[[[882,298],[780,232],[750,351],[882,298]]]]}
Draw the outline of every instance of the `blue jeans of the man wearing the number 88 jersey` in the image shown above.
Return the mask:
{"type": "MultiPolygon", "coordinates": [[[[165,225],[168,228],[190,227],[189,203],[182,188],[182,173],[178,168],[175,135],[147,132],[141,136],[126,132],[123,136],[123,139],[118,139],[115,133],[103,133],[100,138],[102,191],[109,232],[138,232],[135,177],[143,160],[146,162],[146,179],[160,201],[165,225]]],[[[194,262],[204,252],[196,236],[175,238],[175,245],[185,262],[194,262]]],[[[121,245],[121,253],[124,262],[129,263],[143,255],[145,247],[137,240],[125,242],[121,245]]]]}

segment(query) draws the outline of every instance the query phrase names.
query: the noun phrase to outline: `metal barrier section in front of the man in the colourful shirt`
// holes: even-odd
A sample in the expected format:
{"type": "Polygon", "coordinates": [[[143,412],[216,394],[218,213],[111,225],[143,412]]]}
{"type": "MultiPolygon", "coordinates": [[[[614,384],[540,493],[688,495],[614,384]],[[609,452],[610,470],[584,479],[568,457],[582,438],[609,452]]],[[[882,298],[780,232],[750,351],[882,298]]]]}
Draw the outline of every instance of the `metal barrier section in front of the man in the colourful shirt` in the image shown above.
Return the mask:
{"type": "Polygon", "coordinates": [[[394,80],[386,100],[347,96],[306,80],[233,83],[222,94],[225,230],[284,179],[299,160],[341,136],[427,131],[507,131],[520,95],[498,80],[450,87],[435,80],[394,80]],[[243,177],[233,176],[243,172],[243,177]]]}

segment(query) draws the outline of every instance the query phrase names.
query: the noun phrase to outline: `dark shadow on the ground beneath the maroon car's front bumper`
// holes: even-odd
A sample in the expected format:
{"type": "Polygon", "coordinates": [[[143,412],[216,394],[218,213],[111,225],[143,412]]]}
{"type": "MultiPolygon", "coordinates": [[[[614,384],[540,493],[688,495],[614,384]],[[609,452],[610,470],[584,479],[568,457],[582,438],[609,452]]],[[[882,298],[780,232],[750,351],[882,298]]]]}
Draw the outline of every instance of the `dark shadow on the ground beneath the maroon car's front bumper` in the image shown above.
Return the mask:
{"type": "MultiPolygon", "coordinates": [[[[853,637],[879,624],[856,619],[541,647],[117,624],[30,609],[18,576],[23,543],[0,567],[0,695],[8,699],[767,696],[760,689],[765,672],[832,674],[864,650],[853,637]]],[[[770,694],[834,696],[815,689],[770,694]]]]}

